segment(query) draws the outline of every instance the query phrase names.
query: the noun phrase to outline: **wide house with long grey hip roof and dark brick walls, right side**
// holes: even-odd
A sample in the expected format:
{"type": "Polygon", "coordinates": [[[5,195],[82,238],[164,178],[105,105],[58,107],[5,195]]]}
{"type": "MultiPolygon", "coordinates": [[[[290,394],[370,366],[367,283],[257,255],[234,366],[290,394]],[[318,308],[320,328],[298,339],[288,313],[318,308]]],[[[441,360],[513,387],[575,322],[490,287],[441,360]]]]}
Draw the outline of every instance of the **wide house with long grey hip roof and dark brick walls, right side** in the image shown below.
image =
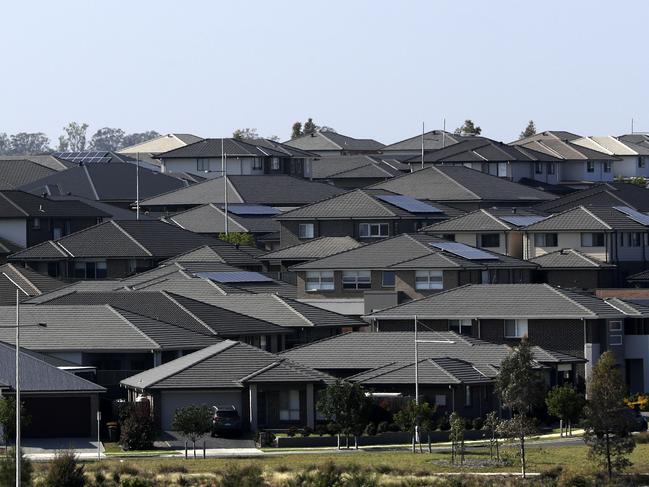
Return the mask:
{"type": "MultiPolygon", "coordinates": [[[[492,343],[515,345],[524,336],[530,344],[580,357],[580,381],[604,351],[624,367],[624,320],[644,317],[624,302],[603,300],[548,284],[473,284],[384,309],[365,318],[380,332],[411,331],[414,317],[423,329],[454,331],[492,343]]],[[[646,354],[646,352],[645,352],[646,354]]],[[[574,377],[574,375],[573,375],[574,377]]]]}

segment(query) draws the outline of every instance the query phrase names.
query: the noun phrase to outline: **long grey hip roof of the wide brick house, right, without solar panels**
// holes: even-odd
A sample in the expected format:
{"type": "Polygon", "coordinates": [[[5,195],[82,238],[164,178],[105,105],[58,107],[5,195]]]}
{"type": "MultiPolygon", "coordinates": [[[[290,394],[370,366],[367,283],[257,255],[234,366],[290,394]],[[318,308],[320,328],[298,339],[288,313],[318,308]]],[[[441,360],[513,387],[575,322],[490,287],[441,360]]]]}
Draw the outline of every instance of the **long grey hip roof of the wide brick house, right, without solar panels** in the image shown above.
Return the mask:
{"type": "Polygon", "coordinates": [[[469,284],[378,311],[378,319],[598,319],[623,316],[602,299],[548,284],[469,284]]]}

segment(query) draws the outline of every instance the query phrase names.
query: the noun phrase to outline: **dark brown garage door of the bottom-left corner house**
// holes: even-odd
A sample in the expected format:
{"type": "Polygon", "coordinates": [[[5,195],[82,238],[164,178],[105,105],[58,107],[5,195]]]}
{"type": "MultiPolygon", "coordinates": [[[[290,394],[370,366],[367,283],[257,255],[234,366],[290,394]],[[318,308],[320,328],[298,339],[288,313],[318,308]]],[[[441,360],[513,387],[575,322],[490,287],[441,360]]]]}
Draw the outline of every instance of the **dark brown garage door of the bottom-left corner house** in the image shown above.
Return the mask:
{"type": "Polygon", "coordinates": [[[26,397],[30,416],[22,428],[26,438],[87,438],[90,436],[90,397],[26,397]]]}

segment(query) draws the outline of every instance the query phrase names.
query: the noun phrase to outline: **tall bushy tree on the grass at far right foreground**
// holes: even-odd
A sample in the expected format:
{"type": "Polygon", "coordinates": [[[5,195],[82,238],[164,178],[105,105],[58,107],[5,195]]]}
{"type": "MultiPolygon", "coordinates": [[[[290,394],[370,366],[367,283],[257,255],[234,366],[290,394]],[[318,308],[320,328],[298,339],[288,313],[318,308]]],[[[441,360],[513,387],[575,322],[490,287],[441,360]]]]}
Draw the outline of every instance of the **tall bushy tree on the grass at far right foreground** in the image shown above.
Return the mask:
{"type": "Polygon", "coordinates": [[[604,352],[593,367],[587,390],[584,440],[590,447],[590,457],[606,467],[610,478],[614,471],[631,465],[628,455],[635,448],[624,404],[624,378],[611,352],[604,352]]]}

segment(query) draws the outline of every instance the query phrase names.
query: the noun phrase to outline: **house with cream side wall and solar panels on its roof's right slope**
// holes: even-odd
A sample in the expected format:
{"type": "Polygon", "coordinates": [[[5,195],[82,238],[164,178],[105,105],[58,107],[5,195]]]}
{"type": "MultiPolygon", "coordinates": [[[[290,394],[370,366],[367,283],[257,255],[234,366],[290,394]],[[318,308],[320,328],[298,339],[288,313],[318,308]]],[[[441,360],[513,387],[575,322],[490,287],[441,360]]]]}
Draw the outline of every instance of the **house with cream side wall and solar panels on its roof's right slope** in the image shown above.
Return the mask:
{"type": "Polygon", "coordinates": [[[421,229],[429,235],[523,258],[523,228],[546,218],[526,208],[489,208],[460,215],[421,229]]]}

